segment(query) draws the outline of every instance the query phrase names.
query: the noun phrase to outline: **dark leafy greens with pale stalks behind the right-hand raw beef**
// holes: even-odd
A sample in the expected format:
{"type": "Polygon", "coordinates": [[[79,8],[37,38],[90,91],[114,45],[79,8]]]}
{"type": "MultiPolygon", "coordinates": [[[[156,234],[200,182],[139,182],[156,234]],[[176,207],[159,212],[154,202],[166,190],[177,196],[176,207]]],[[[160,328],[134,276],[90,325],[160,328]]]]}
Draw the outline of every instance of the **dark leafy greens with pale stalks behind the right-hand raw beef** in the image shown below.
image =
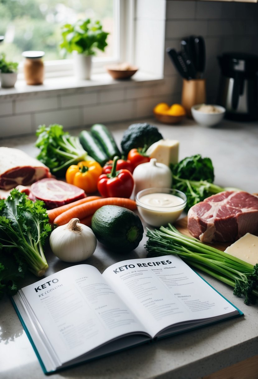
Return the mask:
{"type": "Polygon", "coordinates": [[[184,158],[179,163],[170,164],[170,169],[173,178],[172,187],[187,195],[185,211],[206,197],[226,190],[237,190],[237,188],[215,185],[213,164],[210,158],[202,158],[200,154],[184,158]]]}

